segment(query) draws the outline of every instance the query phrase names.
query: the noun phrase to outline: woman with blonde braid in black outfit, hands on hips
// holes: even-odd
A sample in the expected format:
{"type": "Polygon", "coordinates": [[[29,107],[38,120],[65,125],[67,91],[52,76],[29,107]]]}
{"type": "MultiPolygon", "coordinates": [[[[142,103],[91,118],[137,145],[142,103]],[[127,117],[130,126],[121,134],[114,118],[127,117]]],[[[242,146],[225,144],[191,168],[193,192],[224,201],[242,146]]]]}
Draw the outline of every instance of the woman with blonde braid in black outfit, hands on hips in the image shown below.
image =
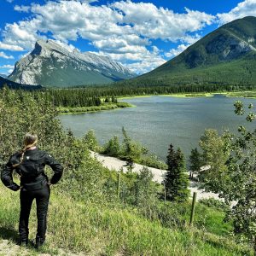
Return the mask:
{"type": "Polygon", "coordinates": [[[26,133],[24,148],[12,156],[4,166],[1,173],[3,184],[17,191],[20,189],[20,245],[28,243],[28,221],[32,207],[32,201],[36,199],[38,232],[36,247],[45,241],[46,217],[49,205],[49,186],[57,183],[62,176],[63,167],[50,154],[37,148],[38,137],[35,134],[26,133]],[[48,165],[55,172],[50,181],[44,173],[44,166],[48,165]],[[14,170],[20,175],[20,186],[13,180],[14,170]]]}

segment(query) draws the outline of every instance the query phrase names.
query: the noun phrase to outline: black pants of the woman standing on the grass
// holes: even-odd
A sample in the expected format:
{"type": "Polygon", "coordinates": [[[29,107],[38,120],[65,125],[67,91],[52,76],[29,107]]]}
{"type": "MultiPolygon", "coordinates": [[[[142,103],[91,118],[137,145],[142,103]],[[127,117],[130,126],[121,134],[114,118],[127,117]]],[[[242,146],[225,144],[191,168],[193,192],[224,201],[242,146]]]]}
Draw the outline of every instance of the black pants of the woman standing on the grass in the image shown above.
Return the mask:
{"type": "Polygon", "coordinates": [[[49,185],[45,184],[42,189],[34,191],[20,190],[20,225],[19,232],[21,240],[28,237],[28,220],[32,207],[32,201],[37,202],[38,233],[37,238],[44,242],[46,232],[46,218],[49,205],[49,185]]]}

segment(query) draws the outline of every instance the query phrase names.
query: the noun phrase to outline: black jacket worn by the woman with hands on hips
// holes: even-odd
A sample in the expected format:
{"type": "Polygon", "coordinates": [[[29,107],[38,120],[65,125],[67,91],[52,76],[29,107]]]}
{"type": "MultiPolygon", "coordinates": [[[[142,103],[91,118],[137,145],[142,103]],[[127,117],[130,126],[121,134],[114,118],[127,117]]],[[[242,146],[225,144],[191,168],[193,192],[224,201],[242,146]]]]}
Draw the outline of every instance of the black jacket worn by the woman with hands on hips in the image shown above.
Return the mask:
{"type": "Polygon", "coordinates": [[[14,167],[20,163],[20,152],[13,154],[8,163],[3,167],[1,180],[3,184],[14,191],[19,190],[24,183],[35,183],[42,177],[48,182],[48,177],[44,173],[44,166],[48,165],[55,172],[50,179],[50,183],[57,183],[62,176],[63,167],[50,154],[38,148],[26,150],[20,166],[14,167]],[[13,180],[13,172],[20,175],[20,186],[13,180]]]}

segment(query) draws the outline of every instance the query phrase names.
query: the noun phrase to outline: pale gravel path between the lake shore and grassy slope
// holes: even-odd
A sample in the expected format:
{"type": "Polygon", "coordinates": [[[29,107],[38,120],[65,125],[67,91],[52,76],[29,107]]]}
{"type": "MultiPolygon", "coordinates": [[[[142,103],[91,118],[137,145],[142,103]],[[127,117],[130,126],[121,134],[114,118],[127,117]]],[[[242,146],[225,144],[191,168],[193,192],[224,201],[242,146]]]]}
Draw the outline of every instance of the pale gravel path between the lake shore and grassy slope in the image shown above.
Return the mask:
{"type": "MultiPolygon", "coordinates": [[[[124,172],[128,172],[127,167],[125,166],[126,162],[123,160],[119,160],[117,158],[98,154],[95,152],[91,152],[91,155],[94,156],[100,162],[102,162],[102,165],[105,167],[108,167],[108,169],[110,170],[119,171],[123,168],[124,172]]],[[[142,165],[134,164],[134,168],[132,169],[132,172],[139,172],[142,168],[143,168],[142,165]]],[[[161,183],[166,171],[152,168],[152,167],[148,167],[148,169],[154,174],[153,180],[155,182],[161,183]]],[[[189,185],[189,189],[191,192],[191,196],[193,195],[194,192],[197,192],[197,200],[200,200],[203,198],[211,198],[211,197],[221,200],[218,197],[218,194],[207,193],[207,192],[204,192],[203,189],[198,189],[198,183],[191,182],[189,185]]]]}

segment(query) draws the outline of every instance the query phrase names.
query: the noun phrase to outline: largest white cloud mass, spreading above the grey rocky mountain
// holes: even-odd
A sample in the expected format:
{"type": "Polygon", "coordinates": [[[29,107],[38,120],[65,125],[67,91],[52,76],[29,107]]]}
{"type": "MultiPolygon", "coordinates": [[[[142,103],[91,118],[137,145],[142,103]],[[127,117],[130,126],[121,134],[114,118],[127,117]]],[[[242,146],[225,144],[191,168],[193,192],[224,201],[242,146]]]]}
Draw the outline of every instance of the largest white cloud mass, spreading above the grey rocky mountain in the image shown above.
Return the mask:
{"type": "MultiPolygon", "coordinates": [[[[198,32],[211,25],[215,17],[204,12],[157,7],[154,3],[119,1],[90,4],[94,0],[59,0],[30,6],[15,6],[16,11],[28,12],[26,20],[6,24],[3,44],[31,50],[35,42],[50,33],[55,40],[68,44],[69,40],[84,38],[99,53],[122,61],[133,70],[143,73],[166,61],[150,39],[192,44],[200,38],[198,32]],[[152,48],[148,50],[148,48],[152,48]],[[129,62],[130,61],[130,62],[129,62]],[[136,62],[137,61],[137,62],[136,62]]],[[[174,52],[173,52],[174,54],[174,52]]],[[[167,55],[171,55],[167,53],[167,55]]]]}

